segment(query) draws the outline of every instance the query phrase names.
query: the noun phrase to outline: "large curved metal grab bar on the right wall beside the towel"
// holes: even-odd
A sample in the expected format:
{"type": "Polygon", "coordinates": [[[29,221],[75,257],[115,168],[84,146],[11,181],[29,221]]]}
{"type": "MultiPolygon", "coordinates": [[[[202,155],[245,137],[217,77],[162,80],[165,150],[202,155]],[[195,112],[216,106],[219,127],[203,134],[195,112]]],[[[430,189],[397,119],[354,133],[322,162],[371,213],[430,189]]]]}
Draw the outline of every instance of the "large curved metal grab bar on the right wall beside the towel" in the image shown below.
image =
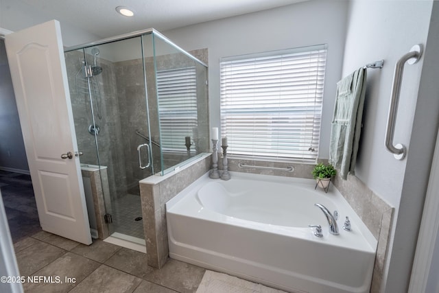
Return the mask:
{"type": "Polygon", "coordinates": [[[396,110],[398,108],[399,94],[401,92],[401,80],[403,78],[403,71],[405,62],[410,65],[415,64],[422,56],[422,45],[414,45],[410,52],[401,57],[396,62],[395,71],[393,75],[392,93],[390,94],[389,115],[387,119],[387,127],[385,128],[385,148],[394,154],[395,159],[403,160],[407,152],[405,145],[398,143],[393,145],[393,135],[396,120],[396,110]]]}

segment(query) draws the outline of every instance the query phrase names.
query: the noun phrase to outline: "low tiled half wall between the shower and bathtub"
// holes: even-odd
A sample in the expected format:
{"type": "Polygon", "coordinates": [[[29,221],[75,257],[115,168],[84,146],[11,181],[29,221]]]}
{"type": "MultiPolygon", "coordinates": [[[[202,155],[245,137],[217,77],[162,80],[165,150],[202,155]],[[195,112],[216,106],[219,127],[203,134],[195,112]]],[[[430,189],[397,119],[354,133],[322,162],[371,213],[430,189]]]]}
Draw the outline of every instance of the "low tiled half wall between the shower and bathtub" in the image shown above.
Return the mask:
{"type": "Polygon", "coordinates": [[[167,261],[169,246],[165,203],[209,171],[211,154],[185,165],[180,172],[152,176],[140,183],[148,265],[161,268],[167,261]],[[154,181],[155,180],[155,181],[154,181]]]}

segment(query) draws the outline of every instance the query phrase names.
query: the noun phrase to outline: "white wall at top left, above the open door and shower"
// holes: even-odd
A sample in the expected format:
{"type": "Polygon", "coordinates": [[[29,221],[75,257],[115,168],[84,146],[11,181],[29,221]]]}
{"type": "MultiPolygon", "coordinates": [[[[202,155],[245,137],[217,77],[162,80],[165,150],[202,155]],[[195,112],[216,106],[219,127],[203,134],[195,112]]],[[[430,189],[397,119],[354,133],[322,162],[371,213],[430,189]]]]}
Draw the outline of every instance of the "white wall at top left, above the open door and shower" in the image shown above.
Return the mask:
{"type": "MultiPolygon", "coordinates": [[[[0,0],[0,27],[17,32],[33,25],[51,21],[52,16],[44,11],[36,11],[21,1],[0,0]]],[[[62,41],[65,47],[98,40],[95,34],[76,27],[74,23],[60,23],[62,41]]]]}

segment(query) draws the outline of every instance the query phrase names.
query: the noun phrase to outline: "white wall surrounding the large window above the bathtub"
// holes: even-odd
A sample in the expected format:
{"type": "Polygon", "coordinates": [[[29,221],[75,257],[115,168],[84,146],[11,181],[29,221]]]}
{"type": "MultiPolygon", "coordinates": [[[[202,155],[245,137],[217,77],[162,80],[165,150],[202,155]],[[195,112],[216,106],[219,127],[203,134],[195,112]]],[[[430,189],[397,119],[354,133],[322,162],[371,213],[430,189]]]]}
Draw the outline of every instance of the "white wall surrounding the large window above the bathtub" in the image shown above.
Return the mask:
{"type": "Polygon", "coordinates": [[[342,70],[347,8],[346,1],[312,0],[163,34],[187,51],[209,48],[211,126],[219,126],[219,58],[327,43],[320,157],[328,158],[335,84],[342,70]]]}

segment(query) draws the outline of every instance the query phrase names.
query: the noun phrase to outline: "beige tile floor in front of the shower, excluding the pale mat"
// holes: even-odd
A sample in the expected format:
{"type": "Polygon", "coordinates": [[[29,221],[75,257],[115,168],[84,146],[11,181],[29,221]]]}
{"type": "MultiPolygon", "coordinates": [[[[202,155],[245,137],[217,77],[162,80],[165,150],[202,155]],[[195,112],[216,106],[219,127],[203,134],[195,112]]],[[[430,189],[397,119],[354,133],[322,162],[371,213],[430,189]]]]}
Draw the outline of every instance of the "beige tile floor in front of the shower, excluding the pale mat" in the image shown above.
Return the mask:
{"type": "Polygon", "coordinates": [[[144,253],[102,240],[86,246],[45,231],[21,239],[14,248],[21,276],[41,280],[23,284],[32,293],[195,292],[205,272],[175,259],[157,270],[147,266],[144,253]]]}

